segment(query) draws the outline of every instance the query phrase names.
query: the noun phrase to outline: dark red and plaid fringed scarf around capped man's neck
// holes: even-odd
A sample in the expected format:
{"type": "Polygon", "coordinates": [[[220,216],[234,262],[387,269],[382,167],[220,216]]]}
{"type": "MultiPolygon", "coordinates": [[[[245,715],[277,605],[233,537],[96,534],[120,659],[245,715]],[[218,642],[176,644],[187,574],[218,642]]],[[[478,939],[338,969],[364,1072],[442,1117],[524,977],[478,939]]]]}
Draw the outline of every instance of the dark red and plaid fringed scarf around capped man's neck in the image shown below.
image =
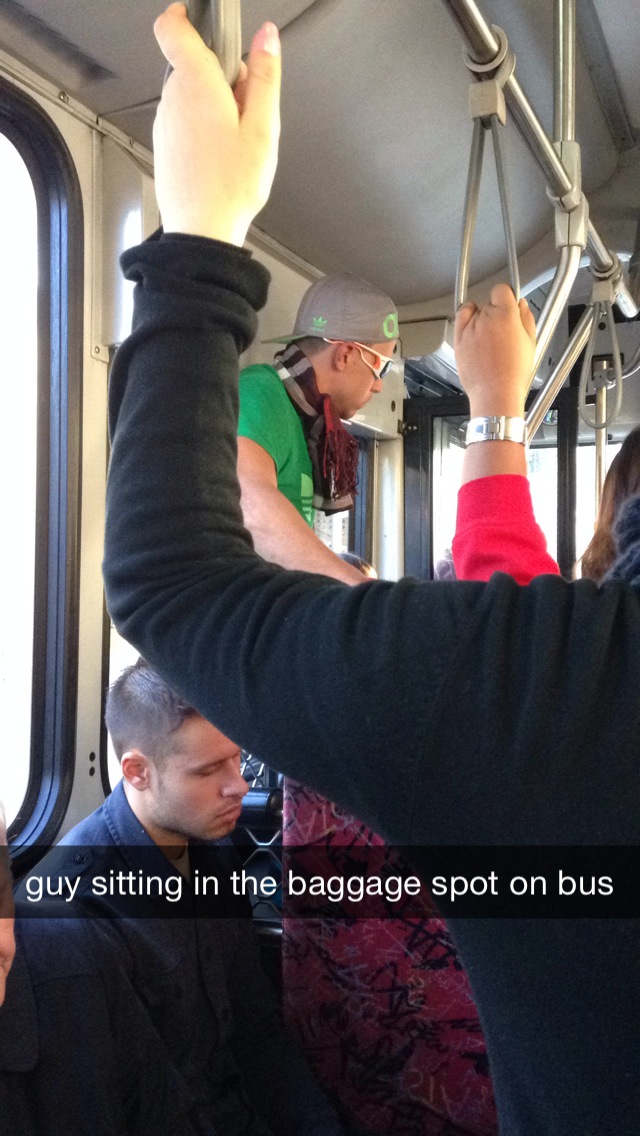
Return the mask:
{"type": "Polygon", "coordinates": [[[284,389],[300,418],[314,474],[314,508],[339,512],[354,507],[358,474],[358,442],[340,420],[329,394],[317,389],[314,368],[296,343],[274,360],[284,389]]]}

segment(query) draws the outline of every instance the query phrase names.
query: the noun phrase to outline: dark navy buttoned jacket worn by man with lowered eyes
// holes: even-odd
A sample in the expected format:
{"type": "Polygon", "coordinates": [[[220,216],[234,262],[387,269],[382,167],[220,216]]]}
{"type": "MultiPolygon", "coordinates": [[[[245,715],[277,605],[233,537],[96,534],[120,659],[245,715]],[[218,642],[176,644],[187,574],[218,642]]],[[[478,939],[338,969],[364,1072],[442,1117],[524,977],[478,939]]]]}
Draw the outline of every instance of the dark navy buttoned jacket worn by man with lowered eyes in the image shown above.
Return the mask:
{"type": "MultiPolygon", "coordinates": [[[[17,889],[23,916],[18,919],[23,921],[20,958],[32,986],[38,984],[39,1016],[43,1005],[49,1008],[47,1020],[35,1031],[39,1056],[31,1066],[31,1092],[43,1094],[47,1113],[58,1126],[41,1125],[41,1136],[65,1131],[59,1110],[68,1114],[69,1086],[65,1088],[65,1078],[49,1076],[50,1062],[64,1063],[74,1086],[76,1055],[83,1068],[92,1069],[95,1063],[88,1076],[98,1084],[100,1070],[110,1068],[111,1054],[119,1060],[130,1043],[132,1060],[140,1055],[142,1071],[135,1081],[127,1070],[126,1099],[133,1100],[138,1083],[142,1100],[136,1102],[138,1127],[127,1127],[125,1117],[122,1127],[113,1129],[118,1136],[153,1131],[150,1121],[143,1127],[139,1119],[146,1116],[148,1083],[160,1085],[155,1089],[160,1099],[178,1085],[165,1114],[175,1118],[177,1113],[185,1130],[199,1136],[340,1136],[342,1128],[332,1106],[282,1028],[260,966],[248,901],[231,891],[231,872],[239,867],[230,842],[190,845],[191,880],[219,880],[217,896],[211,892],[210,899],[197,896],[135,818],[120,782],[22,882],[17,889]],[[30,900],[30,894],[39,894],[38,880],[52,882],[52,889],[64,882],[61,895],[43,903],[30,900]],[[72,888],[73,902],[67,902],[72,888]],[[51,968],[49,920],[32,922],[30,918],[43,911],[66,916],[52,919],[58,954],[50,960],[51,968]],[[82,952],[85,971],[75,985],[75,971],[68,971],[66,961],[65,928],[75,939],[85,935],[88,941],[82,952]],[[106,978],[88,962],[97,937],[106,978]],[[59,966],[64,982],[57,975],[59,966]],[[115,1024],[118,1041],[114,1042],[107,1021],[115,997],[122,1003],[126,992],[132,1006],[115,1024]],[[103,1004],[107,1018],[93,1009],[94,1003],[103,1004]]],[[[11,971],[9,1008],[14,985],[11,971]]],[[[7,1038],[5,1051],[10,1054],[7,1038]]],[[[25,1079],[25,1093],[28,1089],[25,1079]]],[[[73,1086],[70,1092],[77,1094],[73,1086]]],[[[95,1101],[83,1093],[69,1131],[83,1136],[110,1133],[95,1119],[107,1095],[113,1102],[107,1116],[117,1111],[118,1087],[107,1078],[95,1101]]],[[[156,1108],[148,1111],[156,1116],[156,1108]]]]}

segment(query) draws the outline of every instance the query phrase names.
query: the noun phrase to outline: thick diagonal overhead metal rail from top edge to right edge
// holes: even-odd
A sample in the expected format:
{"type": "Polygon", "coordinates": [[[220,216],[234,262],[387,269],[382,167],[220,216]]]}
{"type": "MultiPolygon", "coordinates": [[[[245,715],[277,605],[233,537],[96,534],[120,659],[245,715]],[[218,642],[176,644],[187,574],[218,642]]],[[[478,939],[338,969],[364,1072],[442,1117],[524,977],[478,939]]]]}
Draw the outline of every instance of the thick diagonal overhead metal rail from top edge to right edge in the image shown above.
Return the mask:
{"type": "MultiPolygon", "coordinates": [[[[480,64],[494,59],[499,43],[475,0],[442,0],[442,2],[462,31],[471,57],[480,64]]],[[[515,74],[505,83],[505,97],[516,130],[542,169],[551,194],[566,210],[574,209],[577,204],[574,181],[563,158],[547,137],[515,74]]],[[[598,275],[615,270],[615,256],[602,243],[590,220],[587,222],[587,248],[598,275]]],[[[638,315],[638,304],[624,283],[616,292],[615,302],[627,319],[638,315]]]]}

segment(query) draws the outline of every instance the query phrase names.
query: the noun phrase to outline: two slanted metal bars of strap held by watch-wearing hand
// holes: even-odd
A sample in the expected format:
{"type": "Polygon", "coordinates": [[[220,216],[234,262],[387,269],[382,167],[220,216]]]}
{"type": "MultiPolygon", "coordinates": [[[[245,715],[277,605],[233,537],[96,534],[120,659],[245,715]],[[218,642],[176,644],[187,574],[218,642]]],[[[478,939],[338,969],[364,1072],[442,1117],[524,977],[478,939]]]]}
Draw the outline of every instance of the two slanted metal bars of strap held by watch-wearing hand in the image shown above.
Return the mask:
{"type": "MultiPolygon", "coordinates": [[[[493,139],[493,157],[496,160],[496,176],[500,192],[500,208],[502,211],[502,227],[505,229],[505,241],[507,245],[507,259],[509,264],[509,276],[516,300],[520,300],[520,273],[517,267],[517,250],[515,245],[514,228],[509,207],[509,194],[507,189],[507,174],[502,161],[502,149],[500,145],[500,124],[496,115],[490,118],[491,136],[493,139]]],[[[482,161],[484,157],[484,136],[487,127],[481,118],[474,118],[473,135],[471,143],[471,154],[468,162],[467,186],[465,193],[463,236],[460,241],[460,254],[456,272],[456,311],[465,302],[468,289],[468,277],[471,268],[471,250],[477,220],[477,198],[480,194],[480,181],[482,177],[482,161]]]]}

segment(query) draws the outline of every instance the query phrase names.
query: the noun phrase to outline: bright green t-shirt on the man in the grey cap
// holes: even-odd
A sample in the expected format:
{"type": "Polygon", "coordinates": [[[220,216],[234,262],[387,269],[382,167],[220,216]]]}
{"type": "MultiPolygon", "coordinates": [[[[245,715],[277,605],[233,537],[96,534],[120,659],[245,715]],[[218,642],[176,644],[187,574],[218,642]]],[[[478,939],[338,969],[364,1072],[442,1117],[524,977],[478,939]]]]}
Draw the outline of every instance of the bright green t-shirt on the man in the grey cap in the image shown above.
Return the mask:
{"type": "Polygon", "coordinates": [[[311,459],[300,419],[275,367],[256,364],[240,371],[238,433],[272,456],[280,492],[313,527],[311,459]]]}

